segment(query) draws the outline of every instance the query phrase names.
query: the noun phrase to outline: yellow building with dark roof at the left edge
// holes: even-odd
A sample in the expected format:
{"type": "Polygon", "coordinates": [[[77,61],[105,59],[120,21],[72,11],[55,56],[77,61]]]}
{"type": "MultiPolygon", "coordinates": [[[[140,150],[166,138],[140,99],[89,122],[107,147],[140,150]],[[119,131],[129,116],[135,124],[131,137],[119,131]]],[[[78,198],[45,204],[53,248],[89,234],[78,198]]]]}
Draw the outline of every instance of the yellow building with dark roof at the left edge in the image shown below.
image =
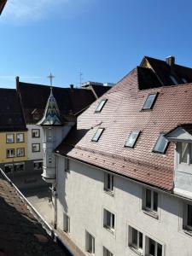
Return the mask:
{"type": "Polygon", "coordinates": [[[25,171],[27,129],[16,90],[0,89],[0,168],[3,172],[25,171]]]}

